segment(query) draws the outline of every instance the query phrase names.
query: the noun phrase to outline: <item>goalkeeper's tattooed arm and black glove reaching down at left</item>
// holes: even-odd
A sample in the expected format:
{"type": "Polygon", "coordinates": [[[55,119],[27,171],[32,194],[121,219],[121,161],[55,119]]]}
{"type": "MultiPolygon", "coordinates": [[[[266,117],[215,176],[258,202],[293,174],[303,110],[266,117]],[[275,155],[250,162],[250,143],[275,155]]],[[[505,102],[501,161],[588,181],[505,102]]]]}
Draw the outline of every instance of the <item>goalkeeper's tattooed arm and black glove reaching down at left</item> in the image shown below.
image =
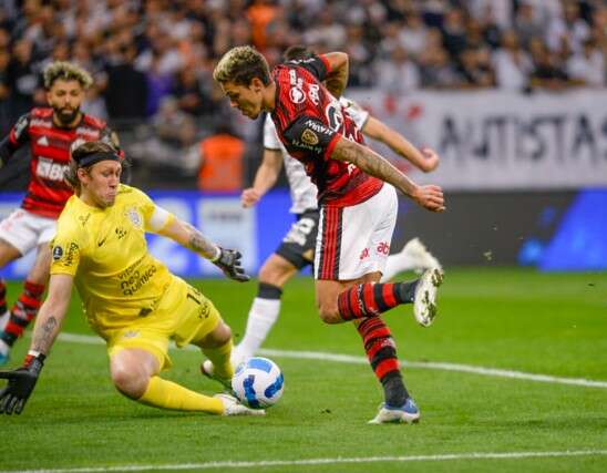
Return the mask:
{"type": "Polygon", "coordinates": [[[72,275],[51,275],[49,297],[42,304],[35,319],[30,351],[23,366],[13,371],[0,371],[0,378],[9,380],[0,391],[0,413],[20,414],[31,395],[44,359],[61,330],[72,295],[72,275]]]}

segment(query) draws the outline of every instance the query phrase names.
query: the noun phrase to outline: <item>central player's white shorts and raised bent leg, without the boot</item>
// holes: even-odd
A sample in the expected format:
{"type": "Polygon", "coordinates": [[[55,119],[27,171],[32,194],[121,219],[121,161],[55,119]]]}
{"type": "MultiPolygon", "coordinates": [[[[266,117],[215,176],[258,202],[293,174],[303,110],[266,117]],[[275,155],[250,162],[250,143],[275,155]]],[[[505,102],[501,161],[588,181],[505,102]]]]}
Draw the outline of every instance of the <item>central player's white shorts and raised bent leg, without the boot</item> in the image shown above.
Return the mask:
{"type": "Polygon", "coordinates": [[[377,282],[390,251],[397,212],[395,191],[389,185],[362,204],[322,208],[315,277],[325,322],[377,317],[415,301],[419,280],[377,282]],[[364,275],[371,276],[364,279],[364,275]]]}

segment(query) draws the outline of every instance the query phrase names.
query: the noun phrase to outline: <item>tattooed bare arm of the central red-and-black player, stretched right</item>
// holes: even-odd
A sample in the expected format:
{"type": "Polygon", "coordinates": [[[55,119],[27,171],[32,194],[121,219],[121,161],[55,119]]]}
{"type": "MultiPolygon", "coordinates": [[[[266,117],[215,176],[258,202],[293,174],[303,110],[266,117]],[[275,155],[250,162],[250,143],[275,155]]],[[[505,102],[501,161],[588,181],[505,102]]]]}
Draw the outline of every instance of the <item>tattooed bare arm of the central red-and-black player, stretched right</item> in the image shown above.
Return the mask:
{"type": "Polygon", "coordinates": [[[441,187],[435,185],[418,186],[388,160],[367,146],[338,135],[330,158],[351,163],[364,173],[392,184],[428,210],[444,210],[441,187]]]}

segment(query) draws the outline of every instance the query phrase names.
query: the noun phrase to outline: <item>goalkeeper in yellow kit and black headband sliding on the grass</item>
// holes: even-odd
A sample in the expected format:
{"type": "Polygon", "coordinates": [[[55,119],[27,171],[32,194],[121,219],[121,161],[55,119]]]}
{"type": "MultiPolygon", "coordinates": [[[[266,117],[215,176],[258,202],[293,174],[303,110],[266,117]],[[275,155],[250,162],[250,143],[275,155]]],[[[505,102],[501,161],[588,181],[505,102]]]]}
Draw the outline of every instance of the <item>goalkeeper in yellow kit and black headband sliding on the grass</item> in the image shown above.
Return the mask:
{"type": "Polygon", "coordinates": [[[218,376],[230,379],[232,332],[210,300],[150,255],[145,233],[172,238],[215,263],[232,279],[249,278],[238,251],[218,247],[143,192],[120,184],[121,172],[121,156],[105,143],[89,142],[73,151],[68,181],[75,195],[65,204],[51,244],[49,297],[23,367],[0,372],[9,380],[0,392],[0,412],[23,410],[75,284],[89,325],[107,345],[112,381],[122,394],[164,409],[264,414],[228,394],[203,395],[158,377],[171,367],[172,339],[178,347],[200,347],[218,376]]]}

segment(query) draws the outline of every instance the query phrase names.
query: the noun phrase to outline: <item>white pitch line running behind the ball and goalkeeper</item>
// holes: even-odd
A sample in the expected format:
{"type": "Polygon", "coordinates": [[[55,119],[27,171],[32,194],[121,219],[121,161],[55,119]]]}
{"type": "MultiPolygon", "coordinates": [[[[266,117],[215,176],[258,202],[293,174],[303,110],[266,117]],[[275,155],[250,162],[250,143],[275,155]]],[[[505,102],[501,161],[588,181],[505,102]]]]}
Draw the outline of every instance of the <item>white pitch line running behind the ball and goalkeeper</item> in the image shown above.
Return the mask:
{"type": "MultiPolygon", "coordinates": [[[[73,343],[104,345],[99,337],[76,333],[60,333],[59,339],[73,343]]],[[[187,347],[191,350],[197,350],[195,347],[187,347]]],[[[338,363],[368,364],[366,357],[353,354],[326,353],[322,351],[290,351],[290,350],[270,350],[261,349],[259,354],[277,358],[295,358],[304,360],[335,361],[338,363]]],[[[402,367],[419,368],[425,370],[457,371],[464,373],[481,374],[486,377],[511,378],[525,381],[549,382],[555,384],[583,385],[585,388],[607,389],[607,381],[596,381],[584,378],[562,378],[549,374],[526,373],[524,371],[501,370],[497,368],[474,367],[471,364],[446,363],[438,361],[402,361],[402,367]]]]}

